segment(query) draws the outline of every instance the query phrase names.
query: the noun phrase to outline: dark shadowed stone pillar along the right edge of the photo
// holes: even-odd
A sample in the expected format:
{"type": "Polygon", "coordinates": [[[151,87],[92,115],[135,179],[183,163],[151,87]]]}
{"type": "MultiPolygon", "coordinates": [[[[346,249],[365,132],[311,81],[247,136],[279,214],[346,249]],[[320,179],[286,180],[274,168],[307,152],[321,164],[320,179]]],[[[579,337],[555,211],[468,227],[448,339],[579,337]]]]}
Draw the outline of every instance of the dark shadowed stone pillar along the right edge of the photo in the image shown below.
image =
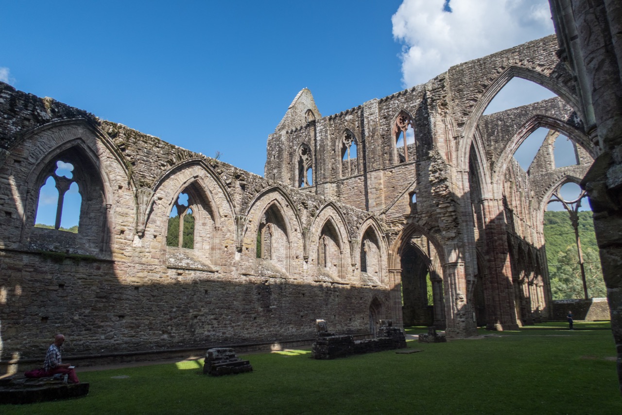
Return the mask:
{"type": "Polygon", "coordinates": [[[583,80],[577,83],[583,107],[593,108],[602,151],[581,184],[594,212],[622,393],[622,7],[618,0],[549,2],[560,45],[568,49],[562,52],[583,80]]]}

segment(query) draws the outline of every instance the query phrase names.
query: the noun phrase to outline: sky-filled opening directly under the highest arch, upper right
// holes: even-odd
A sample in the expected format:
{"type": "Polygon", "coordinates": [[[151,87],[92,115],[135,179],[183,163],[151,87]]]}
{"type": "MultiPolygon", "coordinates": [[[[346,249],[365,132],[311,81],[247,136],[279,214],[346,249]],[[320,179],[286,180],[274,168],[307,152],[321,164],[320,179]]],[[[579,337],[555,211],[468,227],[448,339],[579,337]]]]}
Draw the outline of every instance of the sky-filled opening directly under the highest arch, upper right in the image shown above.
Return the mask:
{"type": "Polygon", "coordinates": [[[555,93],[550,92],[550,90],[535,82],[514,77],[488,103],[488,107],[484,110],[484,115],[521,107],[522,105],[528,105],[556,96],[555,93]]]}

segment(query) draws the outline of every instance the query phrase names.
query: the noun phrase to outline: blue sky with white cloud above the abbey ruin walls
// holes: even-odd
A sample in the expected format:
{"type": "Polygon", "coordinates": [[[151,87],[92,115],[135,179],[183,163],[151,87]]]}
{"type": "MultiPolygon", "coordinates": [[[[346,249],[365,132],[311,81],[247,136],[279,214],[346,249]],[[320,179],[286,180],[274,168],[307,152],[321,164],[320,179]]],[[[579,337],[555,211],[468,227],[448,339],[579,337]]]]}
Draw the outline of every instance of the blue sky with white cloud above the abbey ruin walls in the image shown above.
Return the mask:
{"type": "MultiPolygon", "coordinates": [[[[551,34],[547,13],[546,0],[10,1],[0,80],[263,175],[302,88],[338,113],[551,34]]],[[[498,108],[550,96],[524,89],[498,108]]]]}

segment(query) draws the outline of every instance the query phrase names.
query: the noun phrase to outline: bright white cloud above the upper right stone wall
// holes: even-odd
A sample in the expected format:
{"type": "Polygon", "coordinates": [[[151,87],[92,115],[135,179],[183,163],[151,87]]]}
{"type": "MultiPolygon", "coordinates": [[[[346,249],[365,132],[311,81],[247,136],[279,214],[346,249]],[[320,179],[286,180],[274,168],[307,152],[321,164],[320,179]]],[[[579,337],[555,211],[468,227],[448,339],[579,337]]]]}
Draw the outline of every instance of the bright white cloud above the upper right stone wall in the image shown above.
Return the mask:
{"type": "Polygon", "coordinates": [[[547,0],[404,0],[392,17],[402,42],[402,82],[427,82],[450,66],[554,32],[547,0]]]}

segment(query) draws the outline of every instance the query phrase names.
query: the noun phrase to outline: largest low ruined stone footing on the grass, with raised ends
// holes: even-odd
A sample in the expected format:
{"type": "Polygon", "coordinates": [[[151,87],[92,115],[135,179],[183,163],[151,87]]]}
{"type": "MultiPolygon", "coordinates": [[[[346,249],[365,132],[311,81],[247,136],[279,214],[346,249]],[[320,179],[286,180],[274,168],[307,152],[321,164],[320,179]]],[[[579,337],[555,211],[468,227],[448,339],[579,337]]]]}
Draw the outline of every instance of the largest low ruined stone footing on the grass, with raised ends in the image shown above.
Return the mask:
{"type": "Polygon", "coordinates": [[[351,335],[329,333],[325,320],[316,320],[317,338],[313,342],[314,359],[334,359],[374,351],[406,348],[406,336],[391,320],[380,320],[378,336],[368,340],[354,340],[351,335]]]}

